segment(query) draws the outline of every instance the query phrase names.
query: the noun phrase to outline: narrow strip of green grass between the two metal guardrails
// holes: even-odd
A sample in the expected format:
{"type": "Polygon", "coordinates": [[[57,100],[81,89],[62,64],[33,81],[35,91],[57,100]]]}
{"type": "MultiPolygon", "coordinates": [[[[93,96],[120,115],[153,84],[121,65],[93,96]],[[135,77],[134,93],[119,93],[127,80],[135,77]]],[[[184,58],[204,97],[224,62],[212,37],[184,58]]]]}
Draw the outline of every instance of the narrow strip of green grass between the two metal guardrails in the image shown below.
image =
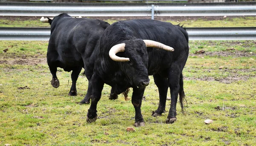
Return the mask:
{"type": "MultiPolygon", "coordinates": [[[[138,17],[139,19],[140,17],[138,17]]],[[[108,19],[106,22],[112,24],[117,20],[108,19]]],[[[248,17],[237,17],[237,18],[225,18],[224,20],[191,20],[187,19],[185,21],[172,21],[172,17],[167,22],[171,22],[172,24],[184,24],[185,27],[255,27],[256,26],[256,17],[248,16],[248,17]]],[[[50,27],[49,23],[40,22],[40,18],[38,20],[20,20],[16,19],[13,21],[2,19],[0,20],[0,27],[50,27]]]]}

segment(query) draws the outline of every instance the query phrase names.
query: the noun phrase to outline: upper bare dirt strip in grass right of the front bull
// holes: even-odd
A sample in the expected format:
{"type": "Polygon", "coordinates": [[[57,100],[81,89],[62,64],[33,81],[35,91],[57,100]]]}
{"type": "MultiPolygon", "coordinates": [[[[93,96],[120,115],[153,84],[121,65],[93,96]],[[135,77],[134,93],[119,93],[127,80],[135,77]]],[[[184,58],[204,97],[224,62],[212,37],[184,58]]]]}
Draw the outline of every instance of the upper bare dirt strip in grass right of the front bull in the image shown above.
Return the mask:
{"type": "Polygon", "coordinates": [[[227,57],[227,56],[233,56],[233,57],[251,57],[255,56],[255,53],[250,52],[244,52],[244,51],[218,51],[218,52],[207,52],[204,53],[190,53],[189,56],[217,56],[217,57],[227,57]]]}

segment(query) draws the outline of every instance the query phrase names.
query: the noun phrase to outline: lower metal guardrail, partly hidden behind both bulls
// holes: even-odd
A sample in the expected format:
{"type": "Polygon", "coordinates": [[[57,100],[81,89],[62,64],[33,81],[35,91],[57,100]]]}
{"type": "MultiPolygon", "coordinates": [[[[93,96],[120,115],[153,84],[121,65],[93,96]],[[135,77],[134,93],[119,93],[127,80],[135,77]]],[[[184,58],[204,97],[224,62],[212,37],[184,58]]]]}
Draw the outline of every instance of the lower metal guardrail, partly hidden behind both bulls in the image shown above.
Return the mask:
{"type": "MultiPolygon", "coordinates": [[[[256,27],[186,28],[189,40],[256,40],[256,27]]],[[[0,28],[0,40],[49,40],[50,28],[0,28]]]]}

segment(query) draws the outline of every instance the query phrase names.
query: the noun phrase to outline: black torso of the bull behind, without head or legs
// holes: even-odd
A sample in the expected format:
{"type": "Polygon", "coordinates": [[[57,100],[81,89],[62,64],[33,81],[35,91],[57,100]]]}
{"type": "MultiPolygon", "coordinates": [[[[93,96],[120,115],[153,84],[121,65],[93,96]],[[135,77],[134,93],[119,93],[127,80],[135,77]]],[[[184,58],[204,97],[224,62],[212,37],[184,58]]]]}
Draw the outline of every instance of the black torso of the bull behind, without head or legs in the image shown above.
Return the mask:
{"type": "Polygon", "coordinates": [[[81,66],[82,57],[89,59],[108,23],[67,17],[52,25],[55,28],[49,39],[47,59],[48,54],[55,54],[51,57],[67,66],[81,66]]]}

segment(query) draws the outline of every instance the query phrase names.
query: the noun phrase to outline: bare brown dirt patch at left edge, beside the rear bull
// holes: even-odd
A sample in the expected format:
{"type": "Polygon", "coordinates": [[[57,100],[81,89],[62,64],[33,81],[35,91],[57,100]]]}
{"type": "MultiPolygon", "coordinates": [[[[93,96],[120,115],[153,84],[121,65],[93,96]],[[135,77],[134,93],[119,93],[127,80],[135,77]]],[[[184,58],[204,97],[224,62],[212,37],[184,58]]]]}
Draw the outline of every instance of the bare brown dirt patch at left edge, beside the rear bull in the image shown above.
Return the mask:
{"type": "Polygon", "coordinates": [[[45,65],[47,64],[46,58],[9,58],[8,60],[1,60],[0,64],[7,65],[45,65]]]}

